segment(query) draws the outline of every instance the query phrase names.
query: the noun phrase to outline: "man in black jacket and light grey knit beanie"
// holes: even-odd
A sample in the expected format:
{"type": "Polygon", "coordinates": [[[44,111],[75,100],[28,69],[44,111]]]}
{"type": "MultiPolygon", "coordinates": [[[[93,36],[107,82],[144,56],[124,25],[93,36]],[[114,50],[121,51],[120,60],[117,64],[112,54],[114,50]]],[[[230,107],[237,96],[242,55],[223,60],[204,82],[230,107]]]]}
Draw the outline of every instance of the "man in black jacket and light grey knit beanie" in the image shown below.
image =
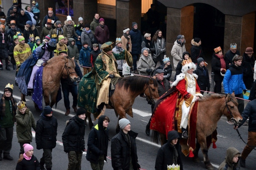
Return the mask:
{"type": "Polygon", "coordinates": [[[129,170],[130,167],[137,170],[140,168],[135,142],[138,133],[131,131],[128,119],[120,119],[118,123],[120,132],[111,140],[112,167],[114,170],[129,170]]]}

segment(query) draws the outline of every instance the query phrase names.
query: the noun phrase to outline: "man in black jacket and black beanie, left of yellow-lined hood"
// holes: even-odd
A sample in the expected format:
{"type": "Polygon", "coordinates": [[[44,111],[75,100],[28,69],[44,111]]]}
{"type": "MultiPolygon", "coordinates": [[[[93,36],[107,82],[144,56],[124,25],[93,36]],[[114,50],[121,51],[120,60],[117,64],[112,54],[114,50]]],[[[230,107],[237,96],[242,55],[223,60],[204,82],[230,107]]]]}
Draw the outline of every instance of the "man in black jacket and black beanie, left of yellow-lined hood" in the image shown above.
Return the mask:
{"type": "Polygon", "coordinates": [[[86,111],[77,109],[76,116],[72,117],[62,134],[64,152],[68,153],[68,169],[81,169],[81,160],[85,151],[85,119],[86,111]]]}

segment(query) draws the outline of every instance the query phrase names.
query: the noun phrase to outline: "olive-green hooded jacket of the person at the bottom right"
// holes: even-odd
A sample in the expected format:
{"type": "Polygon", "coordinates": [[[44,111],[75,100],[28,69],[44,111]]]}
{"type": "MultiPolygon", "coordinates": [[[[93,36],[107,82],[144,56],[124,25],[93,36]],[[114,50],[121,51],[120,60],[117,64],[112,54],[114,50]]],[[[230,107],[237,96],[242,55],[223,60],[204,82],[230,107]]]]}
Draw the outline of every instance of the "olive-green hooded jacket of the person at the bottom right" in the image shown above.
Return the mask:
{"type": "Polygon", "coordinates": [[[240,156],[238,157],[237,163],[233,162],[233,157],[236,156],[237,154],[241,154],[236,148],[229,147],[227,149],[226,157],[225,160],[219,165],[218,170],[237,170],[240,169],[238,162],[240,159],[240,156]]]}

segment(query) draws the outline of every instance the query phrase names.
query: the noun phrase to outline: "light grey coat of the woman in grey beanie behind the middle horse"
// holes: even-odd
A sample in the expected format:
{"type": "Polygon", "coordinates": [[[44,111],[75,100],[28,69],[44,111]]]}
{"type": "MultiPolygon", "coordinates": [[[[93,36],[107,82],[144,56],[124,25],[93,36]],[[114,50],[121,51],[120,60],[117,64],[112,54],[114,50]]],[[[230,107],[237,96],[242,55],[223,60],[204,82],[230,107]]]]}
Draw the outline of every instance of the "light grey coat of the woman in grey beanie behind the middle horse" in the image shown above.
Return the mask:
{"type": "Polygon", "coordinates": [[[150,55],[145,57],[143,54],[140,56],[139,63],[137,65],[138,71],[140,75],[150,76],[151,73],[148,73],[147,69],[152,69],[152,71],[155,70],[155,62],[151,58],[150,55]]]}

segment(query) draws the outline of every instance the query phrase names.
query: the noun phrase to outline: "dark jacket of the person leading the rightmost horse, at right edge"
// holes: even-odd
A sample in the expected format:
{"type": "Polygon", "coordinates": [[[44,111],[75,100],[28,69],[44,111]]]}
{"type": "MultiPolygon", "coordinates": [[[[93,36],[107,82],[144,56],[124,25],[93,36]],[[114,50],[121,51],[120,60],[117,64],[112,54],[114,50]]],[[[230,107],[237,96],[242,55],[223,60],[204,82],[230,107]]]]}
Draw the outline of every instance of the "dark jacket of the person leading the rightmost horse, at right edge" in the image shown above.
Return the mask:
{"type": "Polygon", "coordinates": [[[239,124],[238,127],[242,126],[243,123],[249,118],[248,132],[256,132],[256,99],[247,103],[241,116],[243,121],[239,124]]]}

